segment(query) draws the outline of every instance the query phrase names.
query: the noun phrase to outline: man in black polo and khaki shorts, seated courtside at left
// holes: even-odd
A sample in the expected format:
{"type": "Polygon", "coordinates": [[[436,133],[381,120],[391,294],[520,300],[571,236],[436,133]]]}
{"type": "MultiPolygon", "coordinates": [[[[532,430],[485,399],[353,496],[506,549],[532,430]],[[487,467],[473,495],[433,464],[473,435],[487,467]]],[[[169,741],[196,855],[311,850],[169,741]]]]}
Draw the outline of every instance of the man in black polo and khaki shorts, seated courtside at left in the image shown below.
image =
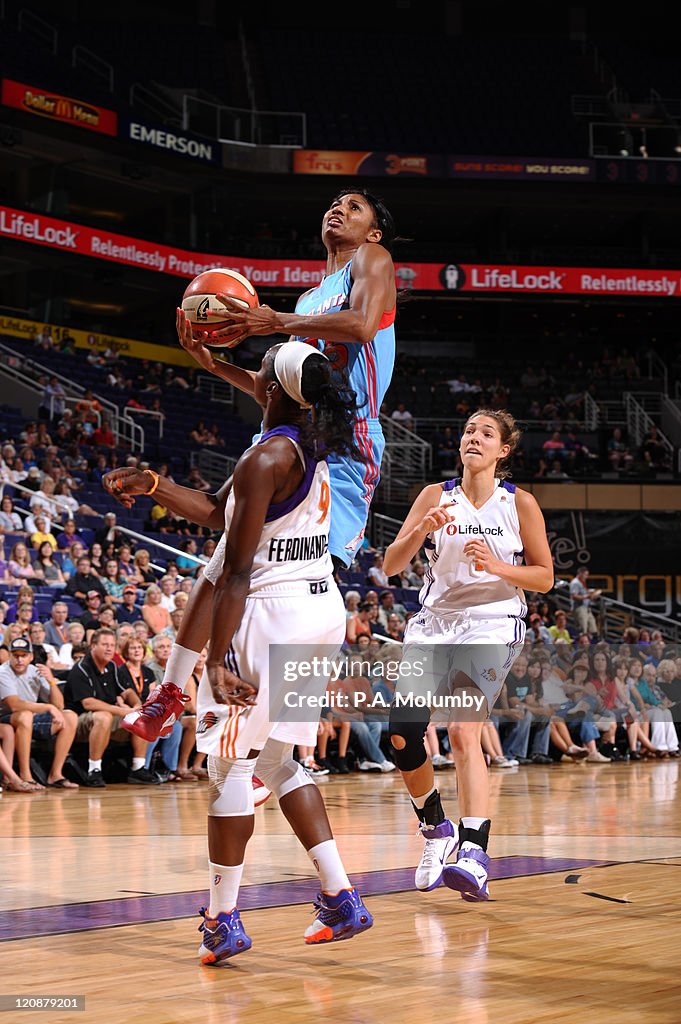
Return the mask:
{"type": "Polygon", "coordinates": [[[101,788],[107,783],[101,773],[104,751],[112,740],[130,740],[132,767],[128,782],[155,785],[158,782],[144,768],[146,741],[126,732],[122,719],[131,709],[141,707],[136,692],[119,678],[114,663],[116,634],[113,630],[97,630],[90,651],[80,658],[69,673],[65,686],[67,707],[78,714],[76,738],[87,740],[89,760],[88,785],[101,788]]]}

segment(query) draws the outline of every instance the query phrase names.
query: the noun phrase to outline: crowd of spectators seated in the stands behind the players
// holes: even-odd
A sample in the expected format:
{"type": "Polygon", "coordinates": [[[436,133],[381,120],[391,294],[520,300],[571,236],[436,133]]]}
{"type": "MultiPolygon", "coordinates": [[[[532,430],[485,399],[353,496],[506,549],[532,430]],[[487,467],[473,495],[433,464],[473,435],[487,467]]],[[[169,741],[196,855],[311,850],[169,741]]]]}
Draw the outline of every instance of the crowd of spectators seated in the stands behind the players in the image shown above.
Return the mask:
{"type": "MultiPolygon", "coordinates": [[[[41,347],[54,345],[43,335],[41,347]]],[[[68,338],[61,350],[68,351],[68,338]]],[[[164,389],[195,386],[191,371],[180,376],[146,364],[126,377],[116,353],[88,356],[109,374],[130,400],[148,403],[164,389]]],[[[626,352],[600,360],[612,374],[636,380],[640,372],[626,352]]],[[[597,368],[591,368],[597,374],[597,368]]],[[[600,371],[599,371],[600,372],[600,371]]],[[[546,371],[527,367],[518,387],[527,422],[550,431],[542,451],[559,478],[569,477],[596,458],[573,429],[582,416],[584,392],[562,397],[546,371]],[[531,397],[548,384],[541,403],[531,397]]],[[[459,374],[446,382],[450,404],[465,417],[479,404],[515,406],[517,394],[500,379],[483,386],[459,374]]],[[[148,547],[129,539],[117,514],[99,516],[88,504],[83,481],[98,484],[103,474],[126,462],[145,463],[115,446],[115,438],[91,391],[79,407],[66,407],[57,378],[45,379],[40,417],[0,442],[0,771],[6,788],[35,792],[44,786],[91,786],[109,780],[159,784],[161,780],[205,778],[196,753],[196,687],[171,737],[144,744],[120,728],[120,719],[138,707],[163,677],[188,595],[201,572],[197,556],[209,558],[216,537],[151,504],[146,528],[176,549],[170,558],[152,558],[148,547]],[[97,408],[98,407],[98,408],[97,408]],[[87,525],[85,525],[87,523],[87,525]],[[173,537],[174,535],[174,537],[173,537]],[[116,770],[118,765],[118,771],[116,770]],[[36,777],[41,774],[42,780],[36,777]]],[[[397,402],[392,419],[414,426],[408,404],[397,402]]],[[[216,424],[199,420],[190,443],[222,446],[216,424]]],[[[654,428],[644,461],[659,465],[654,428]]],[[[458,432],[445,427],[433,438],[436,461],[454,468],[458,432]]],[[[608,464],[635,467],[637,454],[616,428],[607,447],[608,464]]],[[[523,455],[519,462],[522,468],[523,455]]],[[[600,462],[598,463],[600,465],[600,462]]],[[[158,466],[171,477],[167,464],[158,466]]],[[[177,474],[177,470],[175,470],[177,474]]],[[[541,464],[537,473],[541,475],[541,464]]],[[[546,475],[551,478],[552,470],[546,475]]],[[[178,474],[179,475],[179,474],[178,474]]],[[[519,474],[520,475],[520,474],[519,474]]],[[[172,478],[172,477],[171,477],[172,478]]],[[[210,483],[197,468],[179,482],[197,489],[210,483]]],[[[585,574],[586,573],[586,574],[585,574]]],[[[387,663],[398,660],[406,625],[418,608],[425,562],[416,557],[399,577],[388,578],[380,550],[365,542],[359,560],[339,574],[347,608],[346,693],[383,694],[386,709],[374,715],[322,719],[315,750],[298,756],[313,774],[394,770],[387,738],[391,681],[387,663]]],[[[598,592],[581,570],[570,583],[570,607],[530,599],[526,649],[509,676],[482,736],[492,767],[586,760],[602,764],[622,757],[676,756],[673,709],[681,707],[681,656],[663,638],[628,637],[613,649],[599,635],[590,602],[598,592]],[[662,645],[662,646],[661,646],[662,645]],[[639,664],[640,663],[640,664],[639,664]],[[662,665],[662,668],[661,668],[662,665]],[[625,668],[626,666],[626,672],[625,668]]],[[[453,767],[446,730],[431,726],[426,748],[435,767],[453,767]]]]}

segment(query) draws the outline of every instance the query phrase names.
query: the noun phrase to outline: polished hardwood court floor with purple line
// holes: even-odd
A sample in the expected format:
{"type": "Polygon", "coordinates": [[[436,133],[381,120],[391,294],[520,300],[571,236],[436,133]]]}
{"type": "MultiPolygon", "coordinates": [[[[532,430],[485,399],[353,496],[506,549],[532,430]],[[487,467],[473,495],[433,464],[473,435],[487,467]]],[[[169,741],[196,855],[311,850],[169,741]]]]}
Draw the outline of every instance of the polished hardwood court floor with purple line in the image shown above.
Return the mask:
{"type": "MultiPolygon", "coordinates": [[[[415,892],[401,781],[322,779],[375,926],[309,948],[316,888],[273,799],[241,906],[253,948],[202,968],[205,783],[0,798],[0,992],[85,995],[19,1019],[206,1024],[679,1024],[678,762],[493,771],[486,904],[415,892]]],[[[454,772],[438,776],[456,814],[454,772]]],[[[11,1020],[6,1015],[3,1019],[11,1020]]]]}

